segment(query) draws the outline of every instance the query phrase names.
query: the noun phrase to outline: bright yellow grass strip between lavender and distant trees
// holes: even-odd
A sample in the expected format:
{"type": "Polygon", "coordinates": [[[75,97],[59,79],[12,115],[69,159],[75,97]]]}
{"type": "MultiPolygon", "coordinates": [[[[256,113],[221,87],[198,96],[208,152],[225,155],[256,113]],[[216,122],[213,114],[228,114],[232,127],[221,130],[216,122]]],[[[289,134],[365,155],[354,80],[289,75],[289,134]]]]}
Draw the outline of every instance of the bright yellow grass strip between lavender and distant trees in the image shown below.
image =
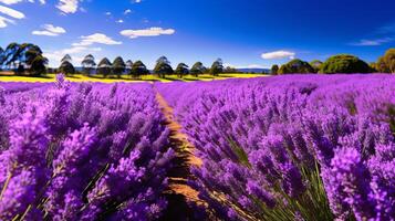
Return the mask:
{"type": "MultiPolygon", "coordinates": [[[[138,82],[175,82],[175,81],[181,81],[181,82],[196,82],[196,81],[215,81],[215,80],[226,80],[226,78],[250,78],[250,77],[258,77],[258,76],[268,76],[268,75],[262,75],[262,74],[240,74],[240,73],[227,73],[227,74],[220,74],[219,76],[211,76],[208,74],[199,75],[198,77],[187,75],[183,78],[179,78],[176,75],[167,75],[165,78],[159,78],[158,76],[155,75],[145,75],[142,76],[139,80],[134,80],[131,78],[129,76],[123,76],[122,78],[117,78],[116,76],[114,77],[108,77],[108,78],[103,78],[102,76],[85,76],[85,75],[73,75],[73,76],[67,76],[66,78],[71,82],[101,82],[101,83],[116,83],[116,82],[128,82],[128,83],[138,83],[138,82]]],[[[46,74],[45,76],[15,76],[15,75],[2,75],[0,73],[0,82],[54,82],[55,81],[55,74],[46,74]]]]}

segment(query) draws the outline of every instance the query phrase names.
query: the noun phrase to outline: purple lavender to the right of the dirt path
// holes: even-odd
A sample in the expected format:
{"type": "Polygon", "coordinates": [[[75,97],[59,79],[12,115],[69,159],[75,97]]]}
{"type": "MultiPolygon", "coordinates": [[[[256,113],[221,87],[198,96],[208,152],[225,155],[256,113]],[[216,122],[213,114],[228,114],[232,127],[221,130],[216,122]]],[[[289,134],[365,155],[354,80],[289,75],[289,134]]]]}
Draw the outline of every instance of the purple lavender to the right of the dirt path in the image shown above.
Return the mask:
{"type": "Polygon", "coordinates": [[[395,76],[157,84],[224,220],[394,220],[395,76]]]}

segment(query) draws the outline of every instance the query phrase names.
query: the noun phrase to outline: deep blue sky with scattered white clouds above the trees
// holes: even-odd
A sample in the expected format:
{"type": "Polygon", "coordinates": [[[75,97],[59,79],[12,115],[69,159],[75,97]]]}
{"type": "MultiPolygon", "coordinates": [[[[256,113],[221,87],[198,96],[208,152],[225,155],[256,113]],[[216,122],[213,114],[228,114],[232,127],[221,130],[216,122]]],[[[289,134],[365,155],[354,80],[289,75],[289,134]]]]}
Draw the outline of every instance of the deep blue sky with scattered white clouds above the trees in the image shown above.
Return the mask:
{"type": "Polygon", "coordinates": [[[121,55],[152,67],[221,57],[270,67],[336,53],[376,61],[395,48],[394,0],[0,0],[0,46],[40,45],[51,66],[121,55]]]}

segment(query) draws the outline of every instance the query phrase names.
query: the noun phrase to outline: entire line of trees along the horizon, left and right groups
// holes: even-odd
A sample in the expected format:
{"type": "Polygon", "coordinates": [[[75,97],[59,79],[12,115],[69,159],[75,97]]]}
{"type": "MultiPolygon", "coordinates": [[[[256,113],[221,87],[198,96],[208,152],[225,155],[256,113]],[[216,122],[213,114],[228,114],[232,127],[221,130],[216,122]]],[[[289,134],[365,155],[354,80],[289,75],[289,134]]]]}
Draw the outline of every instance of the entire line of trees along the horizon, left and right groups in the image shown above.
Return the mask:
{"type": "MultiPolygon", "coordinates": [[[[48,69],[48,59],[43,56],[40,46],[31,43],[10,43],[6,49],[0,48],[0,71],[2,69],[12,70],[17,75],[43,75],[48,71],[51,73],[62,72],[66,75],[77,73],[72,64],[72,57],[66,54],[61,60],[59,69],[48,69]]],[[[201,62],[196,62],[191,67],[185,63],[179,63],[176,69],[166,56],[160,56],[156,61],[155,69],[150,72],[142,61],[132,62],[117,56],[113,62],[108,59],[102,59],[98,64],[92,54],[86,55],[82,63],[82,73],[89,76],[102,75],[103,77],[129,75],[138,78],[147,74],[156,74],[159,77],[176,74],[178,77],[185,75],[198,76],[200,74],[211,74],[214,76],[220,73],[236,73],[232,67],[224,67],[221,59],[216,60],[210,67],[206,67],[201,62]]],[[[294,59],[281,66],[273,65],[271,74],[292,74],[292,73],[395,73],[395,49],[389,49],[385,54],[378,57],[377,62],[367,64],[360,57],[349,54],[337,54],[329,57],[325,62],[314,60],[305,62],[294,59]]]]}

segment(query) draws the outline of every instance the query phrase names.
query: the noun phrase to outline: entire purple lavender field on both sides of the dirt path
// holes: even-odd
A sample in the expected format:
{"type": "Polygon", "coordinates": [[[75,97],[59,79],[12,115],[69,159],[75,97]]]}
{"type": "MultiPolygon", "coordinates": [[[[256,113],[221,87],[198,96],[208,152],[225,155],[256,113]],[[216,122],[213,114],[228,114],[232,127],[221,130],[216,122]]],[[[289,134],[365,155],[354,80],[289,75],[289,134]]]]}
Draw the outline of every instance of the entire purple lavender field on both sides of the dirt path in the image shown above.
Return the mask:
{"type": "Polygon", "coordinates": [[[183,151],[180,220],[395,220],[395,76],[0,83],[0,220],[169,220],[183,151]]]}

